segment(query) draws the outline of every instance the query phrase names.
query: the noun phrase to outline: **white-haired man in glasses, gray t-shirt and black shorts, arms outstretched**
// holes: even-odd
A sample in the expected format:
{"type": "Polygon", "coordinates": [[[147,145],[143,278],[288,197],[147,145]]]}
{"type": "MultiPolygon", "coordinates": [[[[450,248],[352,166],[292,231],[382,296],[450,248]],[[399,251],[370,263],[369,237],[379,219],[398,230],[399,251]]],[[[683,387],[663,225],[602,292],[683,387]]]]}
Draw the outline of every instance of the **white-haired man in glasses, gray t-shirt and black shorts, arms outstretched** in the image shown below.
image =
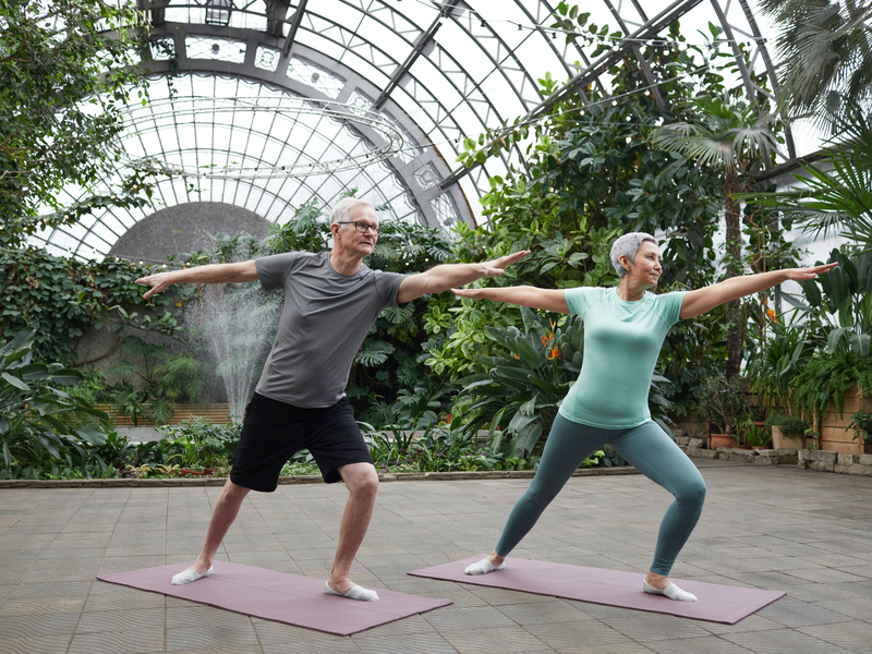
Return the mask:
{"type": "Polygon", "coordinates": [[[354,584],[349,573],[375,506],[378,474],[358,428],[344,389],[354,355],[386,306],[440,293],[504,268],[530,252],[481,264],[447,264],[420,275],[371,270],[363,258],[378,240],[373,206],[340,201],[330,215],[330,252],[288,252],[239,264],[218,264],[158,272],[136,280],[150,286],[144,298],[173,283],[235,283],[259,280],[264,289],[284,289],[284,307],[272,350],[245,411],[242,437],[230,479],[213,507],[206,541],[191,568],[173,584],[211,574],[218,546],[251,491],[271,493],[282,465],[308,449],[324,481],[343,481],[349,499],[339,529],[325,592],[374,602],[375,591],[354,584]]]}

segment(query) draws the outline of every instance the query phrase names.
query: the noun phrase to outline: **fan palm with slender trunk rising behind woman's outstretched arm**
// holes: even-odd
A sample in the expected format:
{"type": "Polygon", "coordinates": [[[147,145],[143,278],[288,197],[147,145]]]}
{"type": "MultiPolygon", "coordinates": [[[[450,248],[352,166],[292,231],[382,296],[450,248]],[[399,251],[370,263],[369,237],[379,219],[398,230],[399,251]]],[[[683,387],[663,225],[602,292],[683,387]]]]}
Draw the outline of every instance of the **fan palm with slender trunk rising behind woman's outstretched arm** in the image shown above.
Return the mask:
{"type": "MultiPolygon", "coordinates": [[[[727,232],[727,277],[741,275],[741,207],[734,194],[741,192],[741,174],[770,157],[777,147],[773,117],[755,107],[720,97],[701,97],[691,102],[699,122],[678,122],[657,128],[651,140],[657,147],[692,159],[724,173],[724,218],[727,232]]],[[[685,160],[678,162],[683,165],[685,160]]],[[[662,174],[670,174],[671,167],[662,174]]],[[[744,328],[739,301],[727,305],[727,378],[739,372],[744,328]]]]}

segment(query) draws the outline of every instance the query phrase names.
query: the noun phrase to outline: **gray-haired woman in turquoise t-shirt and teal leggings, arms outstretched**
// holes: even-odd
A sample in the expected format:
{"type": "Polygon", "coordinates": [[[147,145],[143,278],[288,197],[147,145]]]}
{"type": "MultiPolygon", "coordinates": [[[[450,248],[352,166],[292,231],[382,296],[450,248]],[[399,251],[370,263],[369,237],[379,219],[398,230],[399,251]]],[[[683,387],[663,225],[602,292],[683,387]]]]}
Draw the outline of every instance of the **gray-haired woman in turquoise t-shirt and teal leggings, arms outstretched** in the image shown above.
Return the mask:
{"type": "Polygon", "coordinates": [[[655,295],[647,291],[656,288],[663,269],[654,237],[625,234],[615,241],[610,257],[620,278],[617,288],[453,289],[463,298],[573,313],[584,320],[581,374],[560,405],[536,475],[514,505],[496,549],[465,572],[486,574],[502,569],[506,556],[581,462],[608,443],[676,498],[661,523],[654,562],[642,589],[670,600],[695,602],[695,596],[669,581],[669,571],[699,520],[705,483],[690,459],[651,420],[647,409],[651,375],[663,340],[679,319],[699,316],[788,279],[814,279],[836,264],[734,277],[695,291],[655,295]]]}

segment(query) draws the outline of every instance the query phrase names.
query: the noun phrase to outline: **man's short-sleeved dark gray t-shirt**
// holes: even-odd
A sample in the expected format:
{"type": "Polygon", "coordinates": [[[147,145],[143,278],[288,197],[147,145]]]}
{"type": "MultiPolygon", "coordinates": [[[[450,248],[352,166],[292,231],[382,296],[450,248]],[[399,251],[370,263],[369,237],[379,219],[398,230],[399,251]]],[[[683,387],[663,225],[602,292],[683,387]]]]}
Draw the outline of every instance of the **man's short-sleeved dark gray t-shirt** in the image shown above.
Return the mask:
{"type": "Polygon", "coordinates": [[[284,289],[276,341],[257,392],[294,407],[330,407],[346,395],[363,339],[405,279],[364,265],[340,275],[328,252],[288,252],[255,261],[265,290],[284,289]]]}

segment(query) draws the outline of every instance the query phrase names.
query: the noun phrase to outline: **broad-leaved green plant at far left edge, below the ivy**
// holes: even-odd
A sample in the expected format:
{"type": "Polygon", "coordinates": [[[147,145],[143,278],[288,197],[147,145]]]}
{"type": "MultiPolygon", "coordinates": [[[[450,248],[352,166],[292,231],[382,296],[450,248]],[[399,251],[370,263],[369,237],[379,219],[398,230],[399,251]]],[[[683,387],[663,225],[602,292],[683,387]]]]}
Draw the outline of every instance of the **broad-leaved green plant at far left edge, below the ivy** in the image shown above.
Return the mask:
{"type": "Polygon", "coordinates": [[[102,445],[109,416],[62,387],[78,384],[82,374],[61,363],[34,359],[32,331],[21,331],[0,348],[0,444],[3,476],[15,476],[34,457],[61,459],[72,448],[102,445]],[[92,424],[93,423],[93,424],[92,424]],[[96,425],[96,426],[95,426],[96,425]]]}

